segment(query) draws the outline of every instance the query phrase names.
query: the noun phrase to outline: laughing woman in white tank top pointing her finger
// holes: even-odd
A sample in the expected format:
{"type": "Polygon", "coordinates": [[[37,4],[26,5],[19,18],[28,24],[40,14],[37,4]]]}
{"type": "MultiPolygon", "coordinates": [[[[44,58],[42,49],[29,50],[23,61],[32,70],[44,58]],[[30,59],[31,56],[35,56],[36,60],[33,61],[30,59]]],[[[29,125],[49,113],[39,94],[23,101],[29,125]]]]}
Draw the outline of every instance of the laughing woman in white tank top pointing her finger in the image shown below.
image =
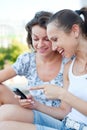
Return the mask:
{"type": "MultiPolygon", "coordinates": [[[[47,85],[38,87],[43,89],[48,99],[60,99],[58,117],[60,126],[45,128],[44,124],[32,125],[20,122],[4,122],[1,128],[14,130],[14,126],[21,130],[87,130],[87,9],[79,11],[68,9],[54,14],[47,25],[47,34],[52,42],[53,50],[57,50],[65,57],[76,55],[76,58],[65,66],[64,87],[47,85]],[[83,14],[84,19],[80,17],[83,14]],[[9,123],[10,127],[6,127],[9,123]],[[41,126],[43,125],[43,126],[41,126]],[[23,126],[23,129],[22,129],[23,126]]],[[[58,120],[52,120],[53,124],[58,120]]],[[[46,125],[46,124],[45,124],[46,125]]]]}

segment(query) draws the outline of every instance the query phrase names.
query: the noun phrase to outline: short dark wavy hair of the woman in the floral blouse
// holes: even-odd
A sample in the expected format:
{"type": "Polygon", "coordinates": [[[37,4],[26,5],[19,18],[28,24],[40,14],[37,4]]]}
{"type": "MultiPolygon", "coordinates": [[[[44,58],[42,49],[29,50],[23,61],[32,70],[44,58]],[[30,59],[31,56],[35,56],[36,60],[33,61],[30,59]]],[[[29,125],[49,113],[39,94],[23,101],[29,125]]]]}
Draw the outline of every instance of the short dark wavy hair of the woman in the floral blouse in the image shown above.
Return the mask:
{"type": "Polygon", "coordinates": [[[46,24],[49,20],[49,18],[52,16],[52,13],[51,12],[47,12],[47,11],[40,11],[40,12],[37,12],[35,14],[35,16],[33,17],[33,19],[31,21],[29,21],[26,26],[25,26],[25,29],[27,31],[27,43],[28,43],[28,46],[32,46],[32,37],[31,37],[31,34],[32,34],[32,27],[34,25],[39,25],[40,27],[42,28],[45,28],[46,29],[46,24]]]}

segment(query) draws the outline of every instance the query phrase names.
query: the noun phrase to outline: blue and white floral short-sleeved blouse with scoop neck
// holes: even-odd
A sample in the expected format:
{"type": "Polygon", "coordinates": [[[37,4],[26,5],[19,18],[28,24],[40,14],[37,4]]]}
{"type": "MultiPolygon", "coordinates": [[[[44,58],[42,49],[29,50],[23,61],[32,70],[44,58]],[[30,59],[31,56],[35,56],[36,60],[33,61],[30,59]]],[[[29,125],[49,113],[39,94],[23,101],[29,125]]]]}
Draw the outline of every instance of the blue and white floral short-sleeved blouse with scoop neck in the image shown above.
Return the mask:
{"type": "MultiPolygon", "coordinates": [[[[61,69],[58,75],[49,82],[42,81],[37,73],[36,69],[36,53],[23,53],[21,54],[16,62],[12,65],[13,69],[16,71],[17,75],[25,76],[28,80],[27,87],[39,86],[43,84],[56,84],[57,86],[63,86],[63,69],[64,64],[68,62],[68,59],[63,58],[61,69]]],[[[39,102],[48,105],[48,106],[59,106],[60,100],[48,100],[45,98],[43,90],[33,90],[30,91],[32,96],[39,102]]]]}

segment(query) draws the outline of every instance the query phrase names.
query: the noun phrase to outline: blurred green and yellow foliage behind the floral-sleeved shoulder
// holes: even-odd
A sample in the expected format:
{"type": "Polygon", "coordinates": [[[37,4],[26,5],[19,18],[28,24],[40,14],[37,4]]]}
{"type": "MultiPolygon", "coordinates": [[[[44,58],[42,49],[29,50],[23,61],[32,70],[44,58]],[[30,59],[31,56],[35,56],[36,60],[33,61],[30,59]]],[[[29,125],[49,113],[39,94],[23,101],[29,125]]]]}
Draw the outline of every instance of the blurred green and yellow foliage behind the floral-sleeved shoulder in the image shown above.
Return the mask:
{"type": "Polygon", "coordinates": [[[30,51],[28,46],[15,39],[8,48],[0,47],[0,69],[3,69],[5,64],[13,64],[18,55],[26,51],[30,51]]]}

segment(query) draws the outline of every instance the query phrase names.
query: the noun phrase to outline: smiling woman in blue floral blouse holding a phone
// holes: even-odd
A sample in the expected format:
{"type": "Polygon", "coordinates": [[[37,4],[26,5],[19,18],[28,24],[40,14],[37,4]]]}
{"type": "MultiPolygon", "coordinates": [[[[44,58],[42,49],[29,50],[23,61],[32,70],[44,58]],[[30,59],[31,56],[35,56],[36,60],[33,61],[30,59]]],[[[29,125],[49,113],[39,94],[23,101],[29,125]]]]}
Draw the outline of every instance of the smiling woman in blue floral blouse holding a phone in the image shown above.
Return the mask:
{"type": "MultiPolygon", "coordinates": [[[[41,11],[35,14],[34,18],[26,25],[28,32],[27,42],[32,46],[35,51],[32,53],[21,54],[16,62],[9,68],[0,71],[0,82],[10,79],[16,75],[25,76],[28,80],[28,88],[37,87],[44,84],[56,84],[59,87],[63,86],[63,69],[64,64],[68,59],[62,58],[57,51],[52,51],[51,42],[49,41],[46,33],[46,23],[52,13],[41,11]],[[3,75],[3,76],[2,76],[3,75]]],[[[19,104],[20,107],[15,105],[3,105],[6,110],[9,110],[8,116],[3,115],[0,118],[7,118],[9,120],[19,120],[24,122],[33,121],[32,109],[41,111],[47,115],[57,118],[57,107],[60,105],[60,100],[47,100],[42,90],[30,91],[28,98],[19,100],[14,98],[14,94],[5,87],[0,85],[2,89],[1,104],[19,104]],[[8,96],[9,95],[9,96],[8,96]],[[27,108],[27,109],[25,109],[27,108]],[[21,109],[21,110],[20,110],[21,109]],[[15,115],[15,113],[17,113],[15,115]],[[25,113],[23,116],[21,113],[25,113]],[[28,113],[27,113],[28,112],[28,113]],[[31,115],[29,114],[31,113],[31,115]],[[30,117],[27,118],[27,117],[30,117]]],[[[5,109],[4,109],[5,110],[5,109]]]]}

